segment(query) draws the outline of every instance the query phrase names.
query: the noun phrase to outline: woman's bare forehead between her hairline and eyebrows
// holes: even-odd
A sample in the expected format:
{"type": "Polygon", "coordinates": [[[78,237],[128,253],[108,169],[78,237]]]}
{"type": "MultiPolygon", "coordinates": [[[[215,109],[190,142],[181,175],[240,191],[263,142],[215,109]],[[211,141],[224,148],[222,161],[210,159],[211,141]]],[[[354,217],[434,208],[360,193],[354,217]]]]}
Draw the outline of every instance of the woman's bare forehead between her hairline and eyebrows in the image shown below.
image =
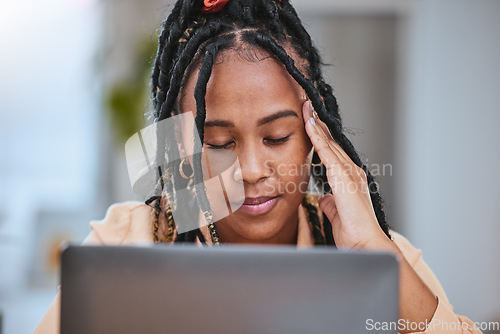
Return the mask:
{"type": "MultiPolygon", "coordinates": [[[[194,87],[198,72],[196,69],[191,73],[184,87],[182,112],[196,111],[194,87]]],[[[219,54],[205,96],[207,119],[220,110],[255,113],[272,106],[290,107],[304,99],[304,90],[284,65],[269,54],[255,50],[250,57],[235,50],[219,54]]]]}

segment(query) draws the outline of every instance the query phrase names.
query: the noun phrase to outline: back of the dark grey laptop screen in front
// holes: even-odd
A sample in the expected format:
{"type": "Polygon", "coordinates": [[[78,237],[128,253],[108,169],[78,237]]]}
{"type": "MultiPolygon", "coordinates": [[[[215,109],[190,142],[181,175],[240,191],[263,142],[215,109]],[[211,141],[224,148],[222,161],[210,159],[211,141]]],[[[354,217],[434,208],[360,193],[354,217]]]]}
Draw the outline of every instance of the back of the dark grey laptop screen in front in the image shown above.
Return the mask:
{"type": "Polygon", "coordinates": [[[380,333],[397,320],[388,253],[156,245],[62,255],[62,334],[380,333]]]}

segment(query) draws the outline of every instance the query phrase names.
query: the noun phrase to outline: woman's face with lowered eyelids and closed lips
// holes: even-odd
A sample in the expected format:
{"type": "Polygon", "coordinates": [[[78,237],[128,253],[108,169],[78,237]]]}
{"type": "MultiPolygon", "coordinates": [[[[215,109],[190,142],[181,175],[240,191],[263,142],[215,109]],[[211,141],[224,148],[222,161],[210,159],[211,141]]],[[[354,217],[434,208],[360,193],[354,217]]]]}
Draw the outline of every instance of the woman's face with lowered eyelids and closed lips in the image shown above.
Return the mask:
{"type": "MultiPolygon", "coordinates": [[[[217,230],[224,242],[295,243],[313,152],[302,116],[306,95],[281,63],[259,58],[224,52],[207,85],[203,147],[236,153],[241,173],[235,177],[245,193],[217,230]]],[[[197,77],[195,70],[182,91],[182,112],[196,112],[197,77]]]]}

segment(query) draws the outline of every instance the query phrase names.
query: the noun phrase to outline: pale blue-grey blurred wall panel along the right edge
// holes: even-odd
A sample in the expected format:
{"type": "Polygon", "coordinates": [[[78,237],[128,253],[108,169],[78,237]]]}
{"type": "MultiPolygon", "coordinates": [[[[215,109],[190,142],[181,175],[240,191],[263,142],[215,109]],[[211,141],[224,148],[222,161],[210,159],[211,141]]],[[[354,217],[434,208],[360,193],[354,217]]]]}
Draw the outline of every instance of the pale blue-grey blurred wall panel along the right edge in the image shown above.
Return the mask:
{"type": "Polygon", "coordinates": [[[498,321],[500,1],[422,0],[407,23],[399,219],[456,312],[498,321]]]}

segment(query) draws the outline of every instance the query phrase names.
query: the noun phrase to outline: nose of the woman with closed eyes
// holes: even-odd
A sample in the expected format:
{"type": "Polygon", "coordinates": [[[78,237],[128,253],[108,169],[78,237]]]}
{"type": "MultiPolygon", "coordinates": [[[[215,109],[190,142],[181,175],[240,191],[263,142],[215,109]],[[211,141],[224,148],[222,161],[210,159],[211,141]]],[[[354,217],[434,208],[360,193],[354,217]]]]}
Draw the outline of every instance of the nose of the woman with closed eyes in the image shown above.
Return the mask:
{"type": "Polygon", "coordinates": [[[266,164],[265,153],[257,145],[246,145],[237,154],[244,183],[258,183],[271,176],[272,169],[266,164]]]}

